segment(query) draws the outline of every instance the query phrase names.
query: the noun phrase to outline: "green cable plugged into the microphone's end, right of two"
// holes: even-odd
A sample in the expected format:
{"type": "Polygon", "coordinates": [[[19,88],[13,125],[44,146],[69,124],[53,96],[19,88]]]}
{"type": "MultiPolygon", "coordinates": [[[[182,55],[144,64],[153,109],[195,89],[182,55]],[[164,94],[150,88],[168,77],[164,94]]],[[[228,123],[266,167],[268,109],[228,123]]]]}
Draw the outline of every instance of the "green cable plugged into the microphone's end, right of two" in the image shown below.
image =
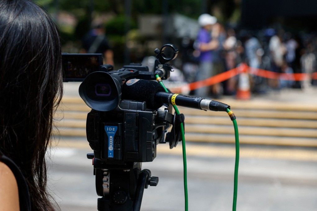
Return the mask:
{"type": "MultiPolygon", "coordinates": [[[[227,109],[227,112],[229,114],[230,109],[227,109]]],[[[240,150],[239,150],[239,132],[238,132],[238,125],[237,125],[236,117],[234,116],[234,118],[231,118],[231,120],[233,122],[233,127],[235,128],[235,139],[236,139],[236,162],[235,162],[235,174],[234,174],[234,184],[233,184],[233,205],[232,205],[232,211],[236,211],[237,190],[238,190],[238,168],[239,168],[239,154],[240,154],[240,150]]]]}

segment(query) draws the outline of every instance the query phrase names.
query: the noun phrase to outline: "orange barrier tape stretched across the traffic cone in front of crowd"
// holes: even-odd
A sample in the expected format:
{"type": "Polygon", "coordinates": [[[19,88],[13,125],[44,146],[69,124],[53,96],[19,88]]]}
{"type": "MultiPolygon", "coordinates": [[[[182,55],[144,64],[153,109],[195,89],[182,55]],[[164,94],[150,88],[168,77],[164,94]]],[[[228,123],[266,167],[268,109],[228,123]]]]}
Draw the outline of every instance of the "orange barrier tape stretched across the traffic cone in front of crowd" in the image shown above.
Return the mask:
{"type": "Polygon", "coordinates": [[[277,73],[277,72],[272,72],[268,70],[263,70],[259,68],[253,68],[249,67],[245,63],[240,64],[238,67],[231,69],[229,71],[225,71],[223,73],[220,73],[218,75],[212,76],[210,78],[201,80],[201,81],[196,81],[192,82],[190,84],[187,84],[182,87],[176,87],[172,88],[172,92],[182,92],[183,90],[190,91],[190,90],[196,90],[199,88],[202,88],[204,86],[211,86],[214,84],[218,84],[220,82],[223,82],[225,80],[228,80],[230,78],[235,77],[236,75],[242,73],[242,72],[248,72],[249,74],[260,76],[263,78],[269,78],[269,79],[282,79],[282,80],[291,80],[291,81],[303,81],[307,80],[308,78],[317,79],[317,72],[314,72],[309,77],[308,73],[277,73]]]}

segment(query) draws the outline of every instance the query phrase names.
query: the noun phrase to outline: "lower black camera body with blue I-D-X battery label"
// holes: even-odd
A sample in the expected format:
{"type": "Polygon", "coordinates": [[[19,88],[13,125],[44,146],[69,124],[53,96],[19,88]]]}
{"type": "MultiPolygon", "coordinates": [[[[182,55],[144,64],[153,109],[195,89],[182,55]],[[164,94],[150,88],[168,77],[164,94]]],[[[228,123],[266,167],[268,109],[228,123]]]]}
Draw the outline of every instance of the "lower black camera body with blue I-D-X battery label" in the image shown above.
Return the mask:
{"type": "Polygon", "coordinates": [[[151,162],[156,146],[164,142],[168,107],[147,109],[145,102],[122,100],[112,111],[87,115],[87,140],[94,158],[107,164],[151,162]]]}

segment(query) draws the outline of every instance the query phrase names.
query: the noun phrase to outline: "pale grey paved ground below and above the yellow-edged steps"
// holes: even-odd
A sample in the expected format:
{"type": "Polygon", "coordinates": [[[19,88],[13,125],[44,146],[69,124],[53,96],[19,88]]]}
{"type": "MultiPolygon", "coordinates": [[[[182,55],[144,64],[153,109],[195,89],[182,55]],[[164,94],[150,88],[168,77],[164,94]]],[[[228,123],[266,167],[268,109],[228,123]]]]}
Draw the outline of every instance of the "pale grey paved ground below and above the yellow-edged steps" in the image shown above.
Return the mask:
{"type": "MultiPolygon", "coordinates": [[[[64,96],[78,96],[80,83],[65,83],[64,96]]],[[[253,96],[250,101],[315,104],[316,88],[286,89],[253,96]]],[[[233,97],[224,97],[225,102],[233,97]]],[[[232,108],[234,110],[234,108],[232,108]]],[[[180,145],[158,146],[157,158],[143,169],[159,177],[157,187],[145,190],[141,210],[184,210],[183,164],[180,145]]],[[[232,209],[235,149],[231,145],[186,144],[189,210],[232,209]]],[[[240,152],[237,210],[314,211],[317,208],[317,151],[315,148],[248,146],[240,152]]],[[[97,198],[91,152],[85,138],[61,137],[52,151],[50,188],[65,211],[96,210],[97,198]]]]}

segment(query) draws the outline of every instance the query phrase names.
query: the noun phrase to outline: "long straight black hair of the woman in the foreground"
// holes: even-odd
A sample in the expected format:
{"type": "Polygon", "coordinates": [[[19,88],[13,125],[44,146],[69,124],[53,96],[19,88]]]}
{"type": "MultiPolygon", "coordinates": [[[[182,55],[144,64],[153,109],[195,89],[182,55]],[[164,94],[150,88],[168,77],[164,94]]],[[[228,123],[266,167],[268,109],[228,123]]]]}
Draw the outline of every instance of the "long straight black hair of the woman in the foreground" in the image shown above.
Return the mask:
{"type": "Polygon", "coordinates": [[[45,152],[63,90],[59,31],[28,0],[0,0],[0,8],[0,151],[23,172],[32,210],[54,210],[45,152]]]}

